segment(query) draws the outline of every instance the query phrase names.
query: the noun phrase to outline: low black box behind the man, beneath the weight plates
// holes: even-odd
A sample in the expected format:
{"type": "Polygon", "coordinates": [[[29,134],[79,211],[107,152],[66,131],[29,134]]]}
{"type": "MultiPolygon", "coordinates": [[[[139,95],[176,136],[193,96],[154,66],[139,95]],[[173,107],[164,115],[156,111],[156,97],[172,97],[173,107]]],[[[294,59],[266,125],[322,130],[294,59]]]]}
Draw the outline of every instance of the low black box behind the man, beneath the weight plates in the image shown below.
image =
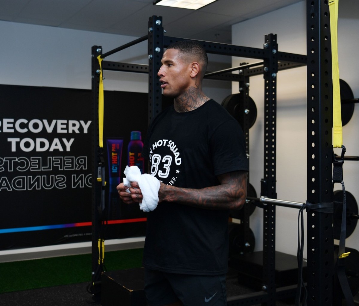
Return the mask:
{"type": "MultiPolygon", "coordinates": [[[[263,285],[263,251],[231,256],[229,266],[238,272],[238,283],[261,290],[263,285]]],[[[303,279],[306,281],[307,263],[303,261],[303,279]]],[[[275,251],[275,286],[285,287],[298,283],[297,256],[275,251]]]]}

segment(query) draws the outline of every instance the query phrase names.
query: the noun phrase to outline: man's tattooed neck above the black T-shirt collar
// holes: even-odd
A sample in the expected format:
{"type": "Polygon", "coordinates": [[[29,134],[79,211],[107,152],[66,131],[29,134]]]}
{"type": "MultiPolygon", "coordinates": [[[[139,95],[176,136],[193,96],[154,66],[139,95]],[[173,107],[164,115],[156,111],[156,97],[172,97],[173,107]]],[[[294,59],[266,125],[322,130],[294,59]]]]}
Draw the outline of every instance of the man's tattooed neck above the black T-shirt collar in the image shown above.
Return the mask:
{"type": "Polygon", "coordinates": [[[190,112],[199,108],[209,100],[198,88],[190,87],[181,94],[174,98],[174,109],[179,112],[190,112]]]}

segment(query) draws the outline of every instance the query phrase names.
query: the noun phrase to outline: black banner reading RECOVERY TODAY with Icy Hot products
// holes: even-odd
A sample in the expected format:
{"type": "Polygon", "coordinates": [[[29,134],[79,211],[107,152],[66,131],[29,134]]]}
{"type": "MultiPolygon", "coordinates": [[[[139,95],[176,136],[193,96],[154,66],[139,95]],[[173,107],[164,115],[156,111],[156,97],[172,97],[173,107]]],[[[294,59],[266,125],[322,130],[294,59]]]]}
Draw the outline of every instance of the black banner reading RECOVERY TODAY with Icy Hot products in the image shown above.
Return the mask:
{"type": "MultiPolygon", "coordinates": [[[[147,99],[104,92],[107,182],[116,166],[122,181],[131,131],[145,136],[147,99]]],[[[0,85],[0,101],[0,249],[90,241],[91,91],[0,85]]],[[[144,236],[146,214],[115,186],[106,187],[106,239],[144,236]]]]}

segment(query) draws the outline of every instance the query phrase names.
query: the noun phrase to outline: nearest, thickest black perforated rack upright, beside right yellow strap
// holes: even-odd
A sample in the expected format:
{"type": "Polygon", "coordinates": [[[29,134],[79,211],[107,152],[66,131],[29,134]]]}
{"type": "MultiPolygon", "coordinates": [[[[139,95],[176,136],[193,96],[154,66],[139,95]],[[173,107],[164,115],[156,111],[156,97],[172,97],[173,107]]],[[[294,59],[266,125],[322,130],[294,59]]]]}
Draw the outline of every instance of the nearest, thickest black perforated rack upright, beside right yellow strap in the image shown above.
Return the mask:
{"type": "MultiPolygon", "coordinates": [[[[329,5],[307,0],[307,201],[332,203],[332,70],[329,5]]],[[[307,215],[308,305],[332,305],[333,214],[307,215]]],[[[336,293],[340,294],[340,293],[336,293]]]]}

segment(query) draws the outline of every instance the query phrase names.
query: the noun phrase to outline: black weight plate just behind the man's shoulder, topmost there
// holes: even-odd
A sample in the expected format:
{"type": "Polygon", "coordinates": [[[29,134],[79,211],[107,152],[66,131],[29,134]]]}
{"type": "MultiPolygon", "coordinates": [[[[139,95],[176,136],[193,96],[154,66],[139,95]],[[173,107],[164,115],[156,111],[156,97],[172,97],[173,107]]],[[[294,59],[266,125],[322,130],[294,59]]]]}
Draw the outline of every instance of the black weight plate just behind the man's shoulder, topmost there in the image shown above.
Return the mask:
{"type": "MultiPolygon", "coordinates": [[[[243,127],[243,122],[241,122],[240,116],[240,105],[243,101],[240,100],[241,94],[235,93],[231,94],[228,97],[224,98],[222,106],[236,119],[239,124],[243,127]]],[[[249,127],[251,128],[257,119],[257,107],[256,103],[251,97],[249,97],[249,127]]]]}

